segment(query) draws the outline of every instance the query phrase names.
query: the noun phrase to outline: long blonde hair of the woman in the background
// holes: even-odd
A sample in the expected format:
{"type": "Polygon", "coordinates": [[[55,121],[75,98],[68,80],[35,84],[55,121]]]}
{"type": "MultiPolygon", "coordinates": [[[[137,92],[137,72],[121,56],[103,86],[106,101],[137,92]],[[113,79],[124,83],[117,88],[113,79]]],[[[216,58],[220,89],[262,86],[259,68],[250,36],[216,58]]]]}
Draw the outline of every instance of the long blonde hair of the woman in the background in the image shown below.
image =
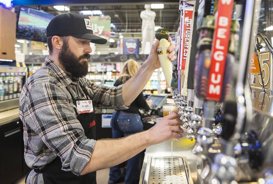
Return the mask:
{"type": "MultiPolygon", "coordinates": [[[[133,59],[129,59],[125,62],[120,77],[129,76],[132,77],[136,74],[136,72],[139,69],[139,64],[133,59]]],[[[126,81],[126,78],[124,77],[122,79],[122,82],[124,83],[126,81]]]]}

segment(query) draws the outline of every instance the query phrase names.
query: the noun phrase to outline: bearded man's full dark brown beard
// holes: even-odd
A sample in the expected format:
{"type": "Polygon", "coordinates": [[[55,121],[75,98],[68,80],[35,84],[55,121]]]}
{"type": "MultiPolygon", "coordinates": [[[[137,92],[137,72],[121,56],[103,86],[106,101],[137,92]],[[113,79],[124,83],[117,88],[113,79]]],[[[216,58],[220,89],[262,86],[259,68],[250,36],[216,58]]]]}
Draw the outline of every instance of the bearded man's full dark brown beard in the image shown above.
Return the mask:
{"type": "Polygon", "coordinates": [[[59,61],[65,67],[66,71],[71,73],[73,77],[83,77],[88,73],[88,62],[80,62],[81,59],[89,59],[90,54],[84,54],[77,57],[69,48],[66,40],[63,42],[62,49],[59,53],[59,61]]]}

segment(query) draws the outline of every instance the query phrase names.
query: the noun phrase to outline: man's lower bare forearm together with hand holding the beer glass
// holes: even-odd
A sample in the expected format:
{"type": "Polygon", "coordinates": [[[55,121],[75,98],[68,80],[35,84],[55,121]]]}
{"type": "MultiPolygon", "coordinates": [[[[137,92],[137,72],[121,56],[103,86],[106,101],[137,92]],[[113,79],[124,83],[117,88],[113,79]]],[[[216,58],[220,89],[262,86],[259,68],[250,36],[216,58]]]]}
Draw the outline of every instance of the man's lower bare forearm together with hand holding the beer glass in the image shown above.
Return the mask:
{"type": "Polygon", "coordinates": [[[144,132],[122,139],[96,141],[91,158],[85,164],[81,175],[120,164],[152,144],[162,143],[171,138],[182,138],[184,130],[180,126],[183,125],[183,121],[179,117],[179,114],[173,112],[144,132]]]}

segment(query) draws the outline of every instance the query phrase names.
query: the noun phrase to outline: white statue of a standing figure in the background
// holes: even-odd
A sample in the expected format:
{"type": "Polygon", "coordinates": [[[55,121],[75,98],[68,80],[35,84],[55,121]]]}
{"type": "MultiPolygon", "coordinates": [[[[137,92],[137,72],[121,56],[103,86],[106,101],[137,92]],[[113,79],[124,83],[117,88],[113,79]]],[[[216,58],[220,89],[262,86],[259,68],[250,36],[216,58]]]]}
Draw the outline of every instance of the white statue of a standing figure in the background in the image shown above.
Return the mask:
{"type": "Polygon", "coordinates": [[[140,54],[149,54],[153,41],[155,40],[155,12],[151,10],[150,4],[145,4],[145,10],[141,11],[142,19],[142,45],[140,54]]]}

